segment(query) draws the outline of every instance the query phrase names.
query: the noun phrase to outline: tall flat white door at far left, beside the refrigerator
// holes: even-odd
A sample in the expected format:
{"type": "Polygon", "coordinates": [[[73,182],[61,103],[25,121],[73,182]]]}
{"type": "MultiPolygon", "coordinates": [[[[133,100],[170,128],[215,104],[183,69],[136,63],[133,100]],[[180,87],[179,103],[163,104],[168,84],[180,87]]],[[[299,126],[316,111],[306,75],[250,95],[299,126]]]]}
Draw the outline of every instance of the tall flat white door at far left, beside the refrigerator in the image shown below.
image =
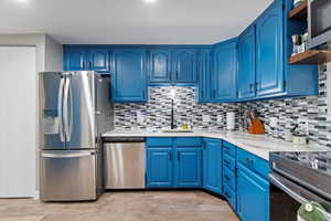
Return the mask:
{"type": "Polygon", "coordinates": [[[0,46],[0,198],[35,196],[35,46],[0,46]]]}

